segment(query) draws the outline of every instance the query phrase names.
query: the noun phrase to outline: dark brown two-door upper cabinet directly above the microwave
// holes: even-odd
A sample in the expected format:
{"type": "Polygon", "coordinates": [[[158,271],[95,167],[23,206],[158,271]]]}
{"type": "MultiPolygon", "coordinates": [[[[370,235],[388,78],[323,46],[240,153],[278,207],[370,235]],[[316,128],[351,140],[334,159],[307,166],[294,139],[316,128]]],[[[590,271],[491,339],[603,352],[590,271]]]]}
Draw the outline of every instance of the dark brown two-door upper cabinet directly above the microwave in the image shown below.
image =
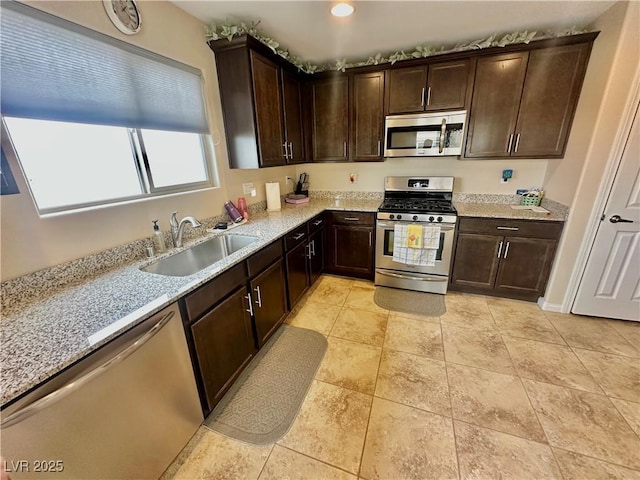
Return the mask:
{"type": "Polygon", "coordinates": [[[463,58],[389,70],[387,112],[463,109],[473,81],[473,60],[463,58]]]}

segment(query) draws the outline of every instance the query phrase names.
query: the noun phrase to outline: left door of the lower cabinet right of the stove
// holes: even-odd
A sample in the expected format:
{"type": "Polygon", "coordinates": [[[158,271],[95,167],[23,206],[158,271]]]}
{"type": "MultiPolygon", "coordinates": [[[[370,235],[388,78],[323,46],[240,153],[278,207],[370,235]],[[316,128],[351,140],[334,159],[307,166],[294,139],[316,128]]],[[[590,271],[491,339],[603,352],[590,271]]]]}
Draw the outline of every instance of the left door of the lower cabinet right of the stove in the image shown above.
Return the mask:
{"type": "Polygon", "coordinates": [[[451,285],[493,289],[499,255],[502,256],[501,245],[504,245],[502,236],[458,233],[451,285]]]}

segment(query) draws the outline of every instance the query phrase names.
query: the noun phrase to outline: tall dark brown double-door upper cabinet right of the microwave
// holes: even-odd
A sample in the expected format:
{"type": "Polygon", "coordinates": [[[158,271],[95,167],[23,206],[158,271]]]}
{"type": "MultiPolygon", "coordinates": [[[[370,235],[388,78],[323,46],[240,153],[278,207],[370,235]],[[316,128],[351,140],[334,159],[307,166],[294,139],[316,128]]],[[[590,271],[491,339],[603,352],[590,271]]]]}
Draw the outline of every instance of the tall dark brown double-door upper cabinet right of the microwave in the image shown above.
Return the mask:
{"type": "Polygon", "coordinates": [[[479,58],[464,156],[564,156],[591,45],[479,58]]]}

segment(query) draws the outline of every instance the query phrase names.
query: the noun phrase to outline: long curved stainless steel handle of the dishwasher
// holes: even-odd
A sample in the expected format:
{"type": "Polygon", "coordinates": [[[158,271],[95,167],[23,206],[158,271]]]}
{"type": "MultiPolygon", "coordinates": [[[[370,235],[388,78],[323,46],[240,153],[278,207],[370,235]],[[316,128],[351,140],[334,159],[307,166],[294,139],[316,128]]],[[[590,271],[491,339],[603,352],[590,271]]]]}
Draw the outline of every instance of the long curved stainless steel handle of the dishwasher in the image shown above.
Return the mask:
{"type": "Polygon", "coordinates": [[[131,356],[134,352],[139,350],[142,346],[144,346],[144,344],[147,343],[149,340],[151,340],[158,332],[160,332],[160,330],[162,330],[162,328],[164,328],[164,326],[167,323],[169,323],[169,321],[173,318],[174,313],[175,312],[173,311],[167,313],[153,327],[147,330],[146,333],[141,335],[135,342],[129,345],[122,352],[118,353],[115,357],[110,358],[109,360],[104,362],[99,367],[96,367],[86,375],[83,375],[82,377],[72,381],[71,383],[67,383],[63,387],[60,387],[59,389],[49,393],[48,395],[36,400],[35,402],[9,415],[7,418],[5,418],[2,421],[2,423],[0,423],[0,427],[8,428],[17,423],[20,423],[23,420],[26,420],[32,415],[35,415],[39,411],[47,408],[49,405],[52,405],[58,402],[59,400],[62,400],[64,397],[78,390],[83,385],[87,384],[94,378],[98,377],[99,375],[109,370],[111,367],[122,362],[123,360],[131,356]]]}

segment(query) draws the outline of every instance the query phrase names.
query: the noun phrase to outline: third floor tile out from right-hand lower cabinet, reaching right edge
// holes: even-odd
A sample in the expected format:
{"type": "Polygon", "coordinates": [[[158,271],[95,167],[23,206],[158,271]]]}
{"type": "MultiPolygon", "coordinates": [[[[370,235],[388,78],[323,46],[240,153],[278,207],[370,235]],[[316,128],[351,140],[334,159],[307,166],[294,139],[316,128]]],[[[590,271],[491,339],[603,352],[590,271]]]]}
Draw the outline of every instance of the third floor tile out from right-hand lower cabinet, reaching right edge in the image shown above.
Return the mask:
{"type": "Polygon", "coordinates": [[[551,446],[640,469],[640,439],[607,397],[523,383],[551,446]]]}

